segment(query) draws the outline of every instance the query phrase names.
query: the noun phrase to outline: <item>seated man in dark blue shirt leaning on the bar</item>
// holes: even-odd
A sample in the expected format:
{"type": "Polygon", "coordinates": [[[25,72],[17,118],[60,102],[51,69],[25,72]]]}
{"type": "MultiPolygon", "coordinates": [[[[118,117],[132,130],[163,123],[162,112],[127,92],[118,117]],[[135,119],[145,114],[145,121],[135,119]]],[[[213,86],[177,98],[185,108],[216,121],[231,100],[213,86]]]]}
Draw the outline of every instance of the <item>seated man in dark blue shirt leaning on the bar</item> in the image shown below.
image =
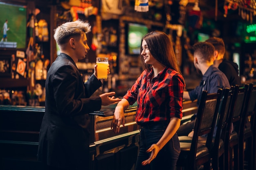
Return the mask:
{"type": "MultiPolygon", "coordinates": [[[[202,80],[195,89],[187,92],[184,91],[183,99],[196,100],[199,105],[203,90],[208,93],[217,93],[218,88],[230,88],[229,81],[225,74],[213,65],[214,46],[209,42],[198,42],[193,45],[194,65],[198,72],[202,73],[202,80]]],[[[194,129],[196,114],[191,117],[190,122],[181,124],[177,131],[178,136],[187,136],[194,129]]]]}

